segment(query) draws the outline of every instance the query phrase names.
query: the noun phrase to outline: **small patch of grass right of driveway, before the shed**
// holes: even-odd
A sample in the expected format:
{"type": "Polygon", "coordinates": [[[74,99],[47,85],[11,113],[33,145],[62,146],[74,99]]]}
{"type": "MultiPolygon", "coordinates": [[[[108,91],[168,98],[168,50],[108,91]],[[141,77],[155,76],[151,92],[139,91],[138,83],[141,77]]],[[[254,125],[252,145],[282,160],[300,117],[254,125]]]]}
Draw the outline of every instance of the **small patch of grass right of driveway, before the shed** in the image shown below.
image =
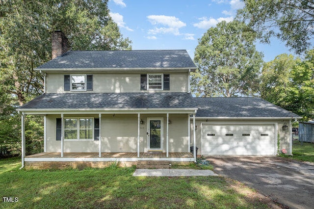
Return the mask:
{"type": "Polygon", "coordinates": [[[314,162],[314,143],[293,141],[293,159],[314,162]]]}

